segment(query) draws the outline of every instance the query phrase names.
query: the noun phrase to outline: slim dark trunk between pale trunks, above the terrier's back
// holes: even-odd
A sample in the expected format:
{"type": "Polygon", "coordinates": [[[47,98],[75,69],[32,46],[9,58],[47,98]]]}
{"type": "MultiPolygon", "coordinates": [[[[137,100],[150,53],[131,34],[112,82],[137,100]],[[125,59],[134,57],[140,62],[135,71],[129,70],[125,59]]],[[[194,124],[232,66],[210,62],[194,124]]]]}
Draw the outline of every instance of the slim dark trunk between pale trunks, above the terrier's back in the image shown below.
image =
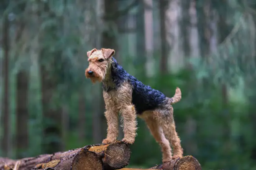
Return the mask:
{"type": "Polygon", "coordinates": [[[160,17],[160,37],[161,37],[161,58],[160,58],[160,72],[166,74],[167,69],[167,40],[166,40],[166,8],[168,7],[169,0],[159,0],[159,17],[160,17]]]}

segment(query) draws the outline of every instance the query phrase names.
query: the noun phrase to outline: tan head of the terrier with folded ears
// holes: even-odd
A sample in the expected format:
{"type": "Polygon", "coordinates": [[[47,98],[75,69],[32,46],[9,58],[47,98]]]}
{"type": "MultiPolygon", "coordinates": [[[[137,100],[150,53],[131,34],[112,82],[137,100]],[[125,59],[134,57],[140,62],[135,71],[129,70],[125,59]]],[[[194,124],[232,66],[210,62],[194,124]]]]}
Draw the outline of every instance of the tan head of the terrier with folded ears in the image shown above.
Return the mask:
{"type": "Polygon", "coordinates": [[[96,48],[87,52],[89,66],[85,70],[85,77],[90,78],[93,83],[104,80],[108,69],[110,68],[110,60],[115,50],[109,48],[96,48]]]}

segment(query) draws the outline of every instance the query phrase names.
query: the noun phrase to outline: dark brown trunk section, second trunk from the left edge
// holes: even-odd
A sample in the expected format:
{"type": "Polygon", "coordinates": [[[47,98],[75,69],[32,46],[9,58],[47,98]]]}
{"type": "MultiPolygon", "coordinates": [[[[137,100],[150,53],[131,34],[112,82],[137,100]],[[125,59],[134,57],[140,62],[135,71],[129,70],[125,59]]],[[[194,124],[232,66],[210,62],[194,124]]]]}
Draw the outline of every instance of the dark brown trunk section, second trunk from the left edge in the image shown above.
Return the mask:
{"type": "Polygon", "coordinates": [[[17,157],[23,157],[28,147],[28,72],[20,70],[17,75],[16,98],[16,149],[17,157]]]}

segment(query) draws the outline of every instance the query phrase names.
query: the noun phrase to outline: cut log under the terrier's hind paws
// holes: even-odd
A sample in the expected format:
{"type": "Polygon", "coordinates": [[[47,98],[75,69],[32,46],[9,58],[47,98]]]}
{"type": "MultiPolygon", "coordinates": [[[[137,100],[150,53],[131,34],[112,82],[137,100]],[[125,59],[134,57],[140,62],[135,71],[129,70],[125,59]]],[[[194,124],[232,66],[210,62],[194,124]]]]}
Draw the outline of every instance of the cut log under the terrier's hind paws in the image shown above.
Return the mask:
{"type": "Polygon", "coordinates": [[[198,160],[189,155],[148,169],[122,168],[120,170],[202,170],[202,168],[198,160]]]}

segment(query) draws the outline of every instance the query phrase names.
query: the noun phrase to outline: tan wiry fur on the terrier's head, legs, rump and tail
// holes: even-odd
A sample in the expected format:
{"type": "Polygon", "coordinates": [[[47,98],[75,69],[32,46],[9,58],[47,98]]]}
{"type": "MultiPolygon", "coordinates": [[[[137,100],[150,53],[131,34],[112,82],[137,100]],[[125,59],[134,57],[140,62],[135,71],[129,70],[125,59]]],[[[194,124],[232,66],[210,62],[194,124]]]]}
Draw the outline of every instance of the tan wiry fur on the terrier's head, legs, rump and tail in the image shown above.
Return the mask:
{"type": "MultiPolygon", "coordinates": [[[[85,70],[85,76],[92,82],[100,81],[106,87],[114,87],[110,72],[110,57],[115,53],[112,49],[102,48],[92,49],[87,52],[89,66],[85,70]],[[104,61],[100,62],[99,60],[104,61]],[[88,71],[93,71],[94,75],[89,75],[88,71]]],[[[107,138],[102,141],[104,144],[113,143],[118,137],[118,113],[122,116],[125,143],[132,144],[135,141],[137,121],[136,109],[132,104],[132,86],[124,82],[117,90],[103,91],[105,101],[105,117],[108,123],[107,138]]],[[[172,104],[181,100],[182,93],[179,87],[176,88],[175,95],[166,97],[166,104],[155,110],[147,110],[138,117],[145,120],[151,134],[161,146],[162,161],[167,162],[183,156],[183,149],[179,136],[175,129],[172,104]],[[173,148],[170,147],[170,143],[173,148]]]]}

